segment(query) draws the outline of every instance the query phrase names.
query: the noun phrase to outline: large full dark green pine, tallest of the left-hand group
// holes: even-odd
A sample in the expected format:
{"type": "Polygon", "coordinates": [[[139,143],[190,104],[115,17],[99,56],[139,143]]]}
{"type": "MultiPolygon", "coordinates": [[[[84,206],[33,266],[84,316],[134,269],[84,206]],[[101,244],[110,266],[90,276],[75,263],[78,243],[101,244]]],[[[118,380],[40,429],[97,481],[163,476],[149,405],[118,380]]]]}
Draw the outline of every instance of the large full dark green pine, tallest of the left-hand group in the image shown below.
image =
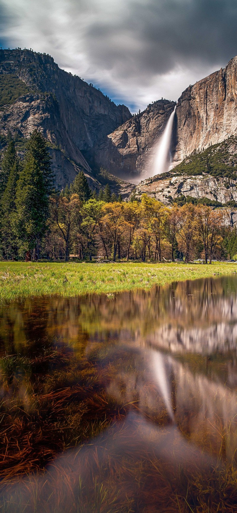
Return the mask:
{"type": "Polygon", "coordinates": [[[48,218],[48,194],[52,187],[50,156],[44,137],[36,130],[27,144],[23,170],[16,188],[14,232],[19,253],[38,258],[48,218]]]}

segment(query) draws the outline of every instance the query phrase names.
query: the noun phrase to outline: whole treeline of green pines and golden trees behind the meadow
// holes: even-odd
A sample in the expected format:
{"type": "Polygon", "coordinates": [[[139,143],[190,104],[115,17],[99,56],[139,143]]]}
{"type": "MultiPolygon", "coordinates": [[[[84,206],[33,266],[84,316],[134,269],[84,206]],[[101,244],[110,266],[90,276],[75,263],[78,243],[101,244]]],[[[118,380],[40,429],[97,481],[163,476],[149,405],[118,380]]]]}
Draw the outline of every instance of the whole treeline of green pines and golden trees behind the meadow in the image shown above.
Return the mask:
{"type": "Polygon", "coordinates": [[[23,161],[9,134],[0,171],[0,251],[4,260],[140,259],[186,263],[233,258],[237,231],[228,210],[176,203],[168,208],[143,194],[130,201],[111,194],[109,185],[97,195],[83,171],[70,188],[53,190],[46,140],[35,130],[23,161]]]}

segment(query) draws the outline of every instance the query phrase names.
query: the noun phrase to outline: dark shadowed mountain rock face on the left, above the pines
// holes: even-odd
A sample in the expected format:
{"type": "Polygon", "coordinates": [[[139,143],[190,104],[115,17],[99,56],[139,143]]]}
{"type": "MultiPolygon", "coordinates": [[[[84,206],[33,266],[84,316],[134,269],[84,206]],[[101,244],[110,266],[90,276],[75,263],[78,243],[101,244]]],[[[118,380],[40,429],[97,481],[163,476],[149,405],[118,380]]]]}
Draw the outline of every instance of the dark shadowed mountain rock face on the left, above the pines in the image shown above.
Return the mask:
{"type": "Polygon", "coordinates": [[[116,106],[80,77],[60,69],[49,55],[0,50],[0,75],[6,74],[25,82],[32,94],[1,108],[2,134],[10,130],[28,137],[34,128],[41,128],[53,153],[56,185],[70,183],[78,168],[93,180],[88,163],[91,148],[131,117],[128,108],[116,106]]]}

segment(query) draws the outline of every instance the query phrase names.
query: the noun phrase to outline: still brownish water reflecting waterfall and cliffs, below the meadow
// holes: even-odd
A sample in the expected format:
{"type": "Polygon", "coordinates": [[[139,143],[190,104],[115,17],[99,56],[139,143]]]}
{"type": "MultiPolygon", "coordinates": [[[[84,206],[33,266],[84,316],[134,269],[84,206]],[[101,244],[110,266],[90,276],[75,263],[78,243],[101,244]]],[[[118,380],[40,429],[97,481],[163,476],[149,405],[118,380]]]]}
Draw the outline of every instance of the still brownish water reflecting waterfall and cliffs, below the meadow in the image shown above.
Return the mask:
{"type": "Polygon", "coordinates": [[[2,307],[3,510],[234,511],[236,340],[235,277],[2,307]]]}

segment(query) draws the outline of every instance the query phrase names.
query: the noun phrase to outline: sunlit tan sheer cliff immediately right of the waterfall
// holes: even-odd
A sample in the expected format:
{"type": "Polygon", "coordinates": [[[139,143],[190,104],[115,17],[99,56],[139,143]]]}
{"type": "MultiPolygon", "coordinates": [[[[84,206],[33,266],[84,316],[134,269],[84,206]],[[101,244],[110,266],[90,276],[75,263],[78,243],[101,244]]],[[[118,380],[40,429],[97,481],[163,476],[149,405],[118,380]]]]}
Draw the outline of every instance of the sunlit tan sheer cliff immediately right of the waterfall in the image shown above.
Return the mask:
{"type": "Polygon", "coordinates": [[[188,87],[176,107],[173,158],[217,144],[237,130],[237,57],[188,87]]]}

